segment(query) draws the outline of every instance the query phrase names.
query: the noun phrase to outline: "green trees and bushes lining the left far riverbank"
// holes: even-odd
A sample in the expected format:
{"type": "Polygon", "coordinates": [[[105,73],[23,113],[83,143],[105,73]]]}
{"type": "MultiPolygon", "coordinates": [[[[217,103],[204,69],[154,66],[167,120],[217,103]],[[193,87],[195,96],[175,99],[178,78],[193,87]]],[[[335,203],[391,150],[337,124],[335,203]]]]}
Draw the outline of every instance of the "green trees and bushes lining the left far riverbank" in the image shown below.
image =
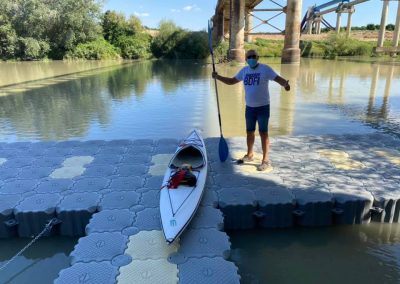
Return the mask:
{"type": "Polygon", "coordinates": [[[162,21],[151,35],[100,0],[0,0],[0,59],[201,59],[207,34],[162,21]]]}

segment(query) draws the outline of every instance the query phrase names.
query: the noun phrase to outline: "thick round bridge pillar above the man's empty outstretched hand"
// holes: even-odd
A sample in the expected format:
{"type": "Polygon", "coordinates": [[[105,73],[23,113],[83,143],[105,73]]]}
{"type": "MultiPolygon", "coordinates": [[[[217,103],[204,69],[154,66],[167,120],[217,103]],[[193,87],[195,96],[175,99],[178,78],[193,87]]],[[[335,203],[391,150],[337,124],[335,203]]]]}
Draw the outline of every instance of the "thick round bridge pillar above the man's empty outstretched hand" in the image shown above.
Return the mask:
{"type": "Polygon", "coordinates": [[[287,0],[282,63],[300,63],[301,6],[302,0],[287,0]]]}

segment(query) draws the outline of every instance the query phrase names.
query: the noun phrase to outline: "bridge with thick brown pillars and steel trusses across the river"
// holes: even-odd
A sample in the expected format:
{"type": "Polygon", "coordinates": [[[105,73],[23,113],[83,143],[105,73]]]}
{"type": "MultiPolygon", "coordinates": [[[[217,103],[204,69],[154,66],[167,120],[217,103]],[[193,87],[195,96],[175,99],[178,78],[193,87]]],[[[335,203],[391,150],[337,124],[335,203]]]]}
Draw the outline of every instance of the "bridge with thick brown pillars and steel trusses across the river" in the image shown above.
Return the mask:
{"type": "MultiPolygon", "coordinates": [[[[283,7],[276,0],[268,0],[273,2],[278,8],[273,9],[256,9],[263,0],[218,0],[213,16],[214,36],[217,40],[229,38],[229,57],[237,61],[244,61],[244,41],[250,41],[251,31],[253,30],[252,18],[253,12],[278,12],[286,14],[285,21],[285,44],[282,52],[282,63],[299,63],[300,62],[300,32],[303,29],[306,33],[320,33],[321,23],[333,27],[323,19],[323,15],[336,12],[336,32],[340,32],[341,15],[348,14],[347,18],[347,36],[351,30],[351,16],[355,12],[355,5],[369,2],[369,0],[334,0],[328,1],[318,6],[310,7],[307,14],[301,21],[302,0],[287,0],[287,5],[283,7]],[[332,6],[334,6],[332,8],[332,6]]],[[[382,17],[379,31],[379,39],[376,47],[376,52],[390,52],[395,54],[400,52],[399,34],[400,34],[400,2],[398,2],[397,17],[395,31],[393,33],[393,41],[391,47],[384,47],[385,27],[387,23],[387,14],[389,10],[389,1],[383,0],[382,17]]],[[[261,20],[261,24],[267,24],[274,28],[268,20],[261,20]]],[[[276,28],[278,29],[278,28],[276,28]]],[[[279,29],[278,29],[279,30],[279,29]]]]}

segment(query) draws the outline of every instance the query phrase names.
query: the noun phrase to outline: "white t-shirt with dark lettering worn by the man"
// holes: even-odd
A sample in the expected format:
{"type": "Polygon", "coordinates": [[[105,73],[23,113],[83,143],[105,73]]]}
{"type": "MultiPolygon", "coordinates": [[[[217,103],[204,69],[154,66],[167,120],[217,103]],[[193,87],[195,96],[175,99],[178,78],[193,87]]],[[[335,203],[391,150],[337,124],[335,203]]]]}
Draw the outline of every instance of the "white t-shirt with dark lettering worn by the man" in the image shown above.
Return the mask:
{"type": "Polygon", "coordinates": [[[258,64],[255,69],[250,66],[243,67],[235,76],[243,81],[246,105],[249,107],[260,107],[269,104],[268,82],[274,80],[277,74],[271,67],[258,64]]]}

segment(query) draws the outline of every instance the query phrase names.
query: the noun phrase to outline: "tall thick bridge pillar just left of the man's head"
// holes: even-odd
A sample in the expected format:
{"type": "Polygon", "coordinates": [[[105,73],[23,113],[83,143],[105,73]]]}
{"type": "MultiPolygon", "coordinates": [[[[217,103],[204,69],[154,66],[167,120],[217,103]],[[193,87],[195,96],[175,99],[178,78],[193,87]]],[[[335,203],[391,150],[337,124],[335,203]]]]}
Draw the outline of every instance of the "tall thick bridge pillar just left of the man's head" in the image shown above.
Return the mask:
{"type": "Polygon", "coordinates": [[[245,0],[231,0],[229,58],[239,62],[245,61],[244,5],[245,0]]]}

